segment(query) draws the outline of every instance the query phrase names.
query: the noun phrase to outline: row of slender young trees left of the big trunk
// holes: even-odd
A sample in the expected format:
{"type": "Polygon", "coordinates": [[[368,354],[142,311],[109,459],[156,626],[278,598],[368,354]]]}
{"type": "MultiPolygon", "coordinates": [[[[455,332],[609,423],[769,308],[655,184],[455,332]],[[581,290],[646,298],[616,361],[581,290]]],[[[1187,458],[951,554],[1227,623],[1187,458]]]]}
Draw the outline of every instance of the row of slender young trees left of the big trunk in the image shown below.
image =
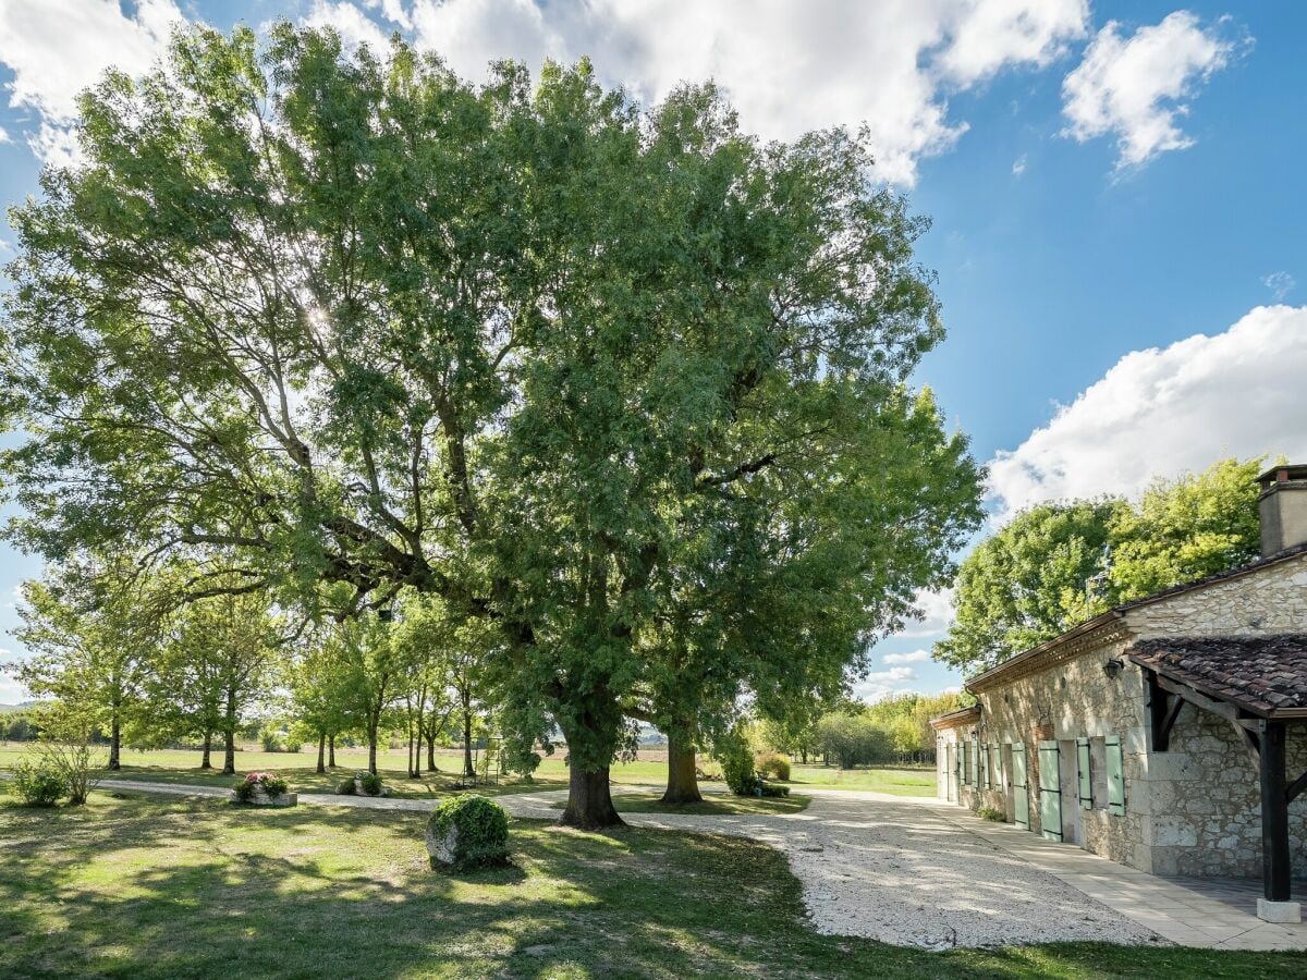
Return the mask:
{"type": "MultiPolygon", "coordinates": [[[[122,562],[69,562],[25,583],[17,635],[33,656],[16,673],[42,699],[39,724],[80,716],[107,743],[110,770],[124,743],[178,741],[199,743],[201,768],[212,768],[221,740],[230,774],[251,713],[285,712],[316,740],[319,771],[335,766],[337,737],[357,734],[375,772],[382,736],[400,729],[418,776],[423,743],[434,770],[435,746],[457,721],[473,775],[472,729],[493,711],[477,689],[481,652],[433,604],[414,600],[393,626],[375,615],[315,622],[271,605],[264,591],[178,601],[184,581],[122,562]]],[[[525,772],[538,760],[529,746],[511,758],[525,772]]]]}

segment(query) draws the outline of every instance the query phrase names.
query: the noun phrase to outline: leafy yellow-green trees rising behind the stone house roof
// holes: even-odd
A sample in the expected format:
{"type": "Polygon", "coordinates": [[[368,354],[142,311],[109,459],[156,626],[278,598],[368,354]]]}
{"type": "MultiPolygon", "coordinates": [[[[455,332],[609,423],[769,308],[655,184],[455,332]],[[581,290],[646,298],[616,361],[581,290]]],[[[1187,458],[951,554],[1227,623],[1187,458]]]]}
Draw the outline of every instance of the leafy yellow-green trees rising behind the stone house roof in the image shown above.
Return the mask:
{"type": "Polygon", "coordinates": [[[1137,502],[1060,500],[1018,514],[962,563],[957,619],[935,655],[967,673],[1065,632],[1120,602],[1260,554],[1264,457],[1158,480],[1137,502]]]}

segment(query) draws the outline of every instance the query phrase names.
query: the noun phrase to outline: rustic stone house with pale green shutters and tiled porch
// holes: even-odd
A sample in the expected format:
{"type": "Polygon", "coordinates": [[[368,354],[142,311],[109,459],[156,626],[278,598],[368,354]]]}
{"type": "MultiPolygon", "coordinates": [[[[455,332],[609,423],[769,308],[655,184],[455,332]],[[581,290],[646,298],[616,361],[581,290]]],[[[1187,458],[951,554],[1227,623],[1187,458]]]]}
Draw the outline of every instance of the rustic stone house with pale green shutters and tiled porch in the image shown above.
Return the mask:
{"type": "Polygon", "coordinates": [[[1117,606],[967,681],[938,796],[1154,874],[1307,874],[1307,465],[1260,478],[1263,557],[1117,606]]]}

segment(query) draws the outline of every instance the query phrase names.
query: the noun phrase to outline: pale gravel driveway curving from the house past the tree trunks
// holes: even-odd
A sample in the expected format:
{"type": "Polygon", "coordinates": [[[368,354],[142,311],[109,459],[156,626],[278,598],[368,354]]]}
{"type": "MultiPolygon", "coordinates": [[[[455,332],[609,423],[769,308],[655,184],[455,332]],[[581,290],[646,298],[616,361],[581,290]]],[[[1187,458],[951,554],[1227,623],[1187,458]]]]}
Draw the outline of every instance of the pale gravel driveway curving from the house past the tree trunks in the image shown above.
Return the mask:
{"type": "MultiPolygon", "coordinates": [[[[105,789],[226,796],[217,787],[103,780],[105,789]]],[[[614,793],[648,787],[614,787],[614,793]]],[[[627,823],[752,838],[782,851],[802,882],[818,932],[899,946],[1012,946],[1098,939],[1163,942],[1036,865],[1005,853],[945,815],[933,801],[881,793],[806,791],[806,810],[776,815],[634,813],[627,823]]],[[[497,797],[520,818],[557,819],[567,791],[497,797]]],[[[430,810],[434,800],[301,793],[301,805],[430,810]]],[[[618,804],[621,806],[621,804],[618,804]]]]}

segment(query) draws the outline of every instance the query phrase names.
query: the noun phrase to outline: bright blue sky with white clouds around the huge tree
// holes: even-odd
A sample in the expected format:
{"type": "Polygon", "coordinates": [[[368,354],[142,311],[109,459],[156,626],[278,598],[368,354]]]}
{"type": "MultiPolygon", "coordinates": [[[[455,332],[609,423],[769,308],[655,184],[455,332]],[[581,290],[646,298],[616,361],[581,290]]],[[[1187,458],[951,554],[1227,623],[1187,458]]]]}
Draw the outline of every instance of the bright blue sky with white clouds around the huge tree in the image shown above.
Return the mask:
{"type": "MultiPolygon", "coordinates": [[[[67,158],[72,93],[149,64],[178,17],[281,16],[401,30],[472,76],[589,54],[646,99],[712,76],[769,137],[865,123],[877,176],[933,218],[919,255],[949,338],[919,380],[992,460],[996,521],[1226,455],[1307,460],[1303,4],[7,0],[0,199],[67,158]]],[[[0,630],[38,572],[0,545],[0,630]]],[[[921,653],[946,598],[876,649],[864,695],[959,683],[921,653]]]]}

